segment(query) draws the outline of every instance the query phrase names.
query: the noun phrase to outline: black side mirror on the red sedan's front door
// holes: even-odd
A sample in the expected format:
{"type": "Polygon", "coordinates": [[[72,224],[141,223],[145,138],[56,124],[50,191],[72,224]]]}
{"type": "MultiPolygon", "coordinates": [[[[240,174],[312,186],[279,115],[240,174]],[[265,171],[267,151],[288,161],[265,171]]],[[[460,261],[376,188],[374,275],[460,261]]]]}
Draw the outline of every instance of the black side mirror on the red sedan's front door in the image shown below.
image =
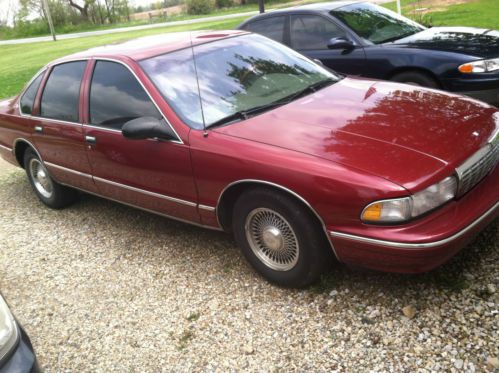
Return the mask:
{"type": "Polygon", "coordinates": [[[130,140],[176,138],[170,127],[152,117],[140,117],[126,122],[121,128],[123,136],[130,140]]]}

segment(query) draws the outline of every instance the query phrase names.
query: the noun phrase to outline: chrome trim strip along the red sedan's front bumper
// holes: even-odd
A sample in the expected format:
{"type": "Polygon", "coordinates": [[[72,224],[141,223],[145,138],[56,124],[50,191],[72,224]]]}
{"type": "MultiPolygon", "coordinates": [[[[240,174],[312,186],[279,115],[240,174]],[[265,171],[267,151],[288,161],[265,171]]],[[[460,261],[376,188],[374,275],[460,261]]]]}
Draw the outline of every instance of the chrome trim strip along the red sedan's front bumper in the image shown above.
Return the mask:
{"type": "Polygon", "coordinates": [[[494,206],[492,206],[490,209],[488,209],[482,216],[480,216],[478,219],[476,219],[473,223],[468,225],[466,228],[464,228],[464,229],[460,230],[459,232],[457,232],[456,234],[453,234],[452,236],[444,238],[443,240],[440,240],[440,241],[424,242],[424,243],[406,243],[406,242],[384,241],[384,240],[378,240],[375,238],[368,238],[368,237],[357,236],[357,235],[348,234],[348,233],[334,232],[334,231],[330,231],[329,234],[331,237],[346,238],[346,239],[352,240],[352,241],[359,241],[359,242],[365,242],[365,243],[388,246],[388,247],[396,247],[396,248],[400,248],[400,249],[426,249],[426,248],[445,245],[449,242],[452,242],[452,241],[460,238],[461,236],[466,234],[468,231],[473,229],[475,226],[480,224],[484,219],[486,219],[490,215],[492,215],[496,211],[498,206],[499,206],[499,202],[496,202],[494,206]]]}

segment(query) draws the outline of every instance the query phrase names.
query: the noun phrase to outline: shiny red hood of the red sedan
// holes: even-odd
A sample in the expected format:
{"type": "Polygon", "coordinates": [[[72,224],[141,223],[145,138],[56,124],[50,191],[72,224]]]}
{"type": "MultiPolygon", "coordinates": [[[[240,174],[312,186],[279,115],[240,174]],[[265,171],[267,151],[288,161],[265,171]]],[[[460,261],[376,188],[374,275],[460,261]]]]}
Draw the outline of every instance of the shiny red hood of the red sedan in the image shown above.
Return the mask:
{"type": "Polygon", "coordinates": [[[496,110],[436,90],[345,78],[215,131],[325,158],[412,190],[448,175],[482,147],[499,122],[496,110]]]}

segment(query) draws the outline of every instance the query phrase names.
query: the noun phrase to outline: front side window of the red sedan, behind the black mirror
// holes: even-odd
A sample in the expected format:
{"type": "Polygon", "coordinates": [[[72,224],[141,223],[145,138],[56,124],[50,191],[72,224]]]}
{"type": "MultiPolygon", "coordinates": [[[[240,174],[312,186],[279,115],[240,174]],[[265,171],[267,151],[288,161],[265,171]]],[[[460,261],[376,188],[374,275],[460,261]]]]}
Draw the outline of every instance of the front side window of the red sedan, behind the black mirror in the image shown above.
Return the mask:
{"type": "Polygon", "coordinates": [[[90,123],[121,129],[140,117],[162,118],[137,79],[122,64],[97,61],[90,86],[90,123]]]}

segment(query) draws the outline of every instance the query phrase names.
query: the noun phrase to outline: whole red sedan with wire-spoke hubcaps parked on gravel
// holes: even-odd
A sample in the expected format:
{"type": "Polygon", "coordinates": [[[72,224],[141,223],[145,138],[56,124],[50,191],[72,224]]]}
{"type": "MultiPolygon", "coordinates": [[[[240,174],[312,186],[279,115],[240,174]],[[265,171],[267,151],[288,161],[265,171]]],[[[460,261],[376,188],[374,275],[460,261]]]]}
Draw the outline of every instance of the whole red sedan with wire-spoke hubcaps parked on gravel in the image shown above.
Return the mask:
{"type": "Polygon", "coordinates": [[[498,133],[479,101],[344,77],[241,31],[78,53],[0,103],[0,153],[47,206],[80,190],[232,232],[285,286],[334,256],[445,262],[497,216],[498,133]]]}

